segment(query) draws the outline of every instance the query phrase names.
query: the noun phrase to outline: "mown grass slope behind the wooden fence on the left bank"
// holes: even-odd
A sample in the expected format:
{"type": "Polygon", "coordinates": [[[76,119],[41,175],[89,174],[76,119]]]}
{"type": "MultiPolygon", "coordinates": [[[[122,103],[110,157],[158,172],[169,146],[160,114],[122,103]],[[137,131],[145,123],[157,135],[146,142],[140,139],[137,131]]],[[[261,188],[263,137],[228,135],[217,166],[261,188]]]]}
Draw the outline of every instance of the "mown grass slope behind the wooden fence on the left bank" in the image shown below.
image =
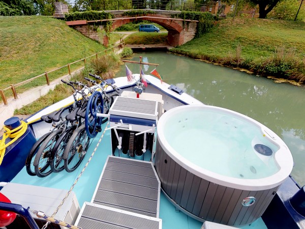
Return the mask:
{"type": "MultiPolygon", "coordinates": [[[[47,16],[0,17],[0,34],[0,89],[105,49],[64,21],[47,16]]],[[[71,70],[81,65],[73,65],[71,70]]],[[[68,74],[67,68],[49,77],[52,80],[64,74],[68,74]]],[[[45,77],[18,87],[17,93],[42,84],[46,84],[45,77]]]]}

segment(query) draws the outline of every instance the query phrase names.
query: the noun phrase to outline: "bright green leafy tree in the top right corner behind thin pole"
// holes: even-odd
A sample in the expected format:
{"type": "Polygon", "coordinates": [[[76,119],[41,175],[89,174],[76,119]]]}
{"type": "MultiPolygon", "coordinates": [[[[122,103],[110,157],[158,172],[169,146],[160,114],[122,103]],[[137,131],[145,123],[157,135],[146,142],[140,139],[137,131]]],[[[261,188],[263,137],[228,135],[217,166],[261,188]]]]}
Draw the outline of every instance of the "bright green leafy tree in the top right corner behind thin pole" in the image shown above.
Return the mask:
{"type": "MultiPolygon", "coordinates": [[[[294,20],[300,3],[296,0],[284,0],[280,2],[271,12],[269,17],[281,20],[294,20]]],[[[305,18],[305,6],[302,7],[297,15],[297,20],[305,18]]]]}

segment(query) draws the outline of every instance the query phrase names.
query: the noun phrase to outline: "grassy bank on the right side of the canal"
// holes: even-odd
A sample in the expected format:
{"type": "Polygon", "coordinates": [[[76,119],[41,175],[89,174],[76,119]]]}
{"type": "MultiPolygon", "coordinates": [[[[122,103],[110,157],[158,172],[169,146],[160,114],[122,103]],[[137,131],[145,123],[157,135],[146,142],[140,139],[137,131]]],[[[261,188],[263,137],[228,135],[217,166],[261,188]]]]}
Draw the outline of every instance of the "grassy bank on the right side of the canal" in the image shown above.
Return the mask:
{"type": "Polygon", "coordinates": [[[305,22],[227,18],[209,33],[172,49],[256,74],[305,81],[305,22]]]}

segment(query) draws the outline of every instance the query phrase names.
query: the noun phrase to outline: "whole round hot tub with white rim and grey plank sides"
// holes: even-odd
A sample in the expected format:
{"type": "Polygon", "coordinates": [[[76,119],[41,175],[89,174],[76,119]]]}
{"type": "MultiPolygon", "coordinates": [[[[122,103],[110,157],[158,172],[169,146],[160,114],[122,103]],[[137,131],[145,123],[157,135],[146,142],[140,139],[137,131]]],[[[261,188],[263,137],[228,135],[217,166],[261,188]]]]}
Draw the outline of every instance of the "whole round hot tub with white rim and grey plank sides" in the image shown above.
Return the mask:
{"type": "Polygon", "coordinates": [[[240,113],[206,105],[168,110],[157,125],[155,166],[170,201],[198,220],[259,218],[293,167],[284,141],[240,113]]]}

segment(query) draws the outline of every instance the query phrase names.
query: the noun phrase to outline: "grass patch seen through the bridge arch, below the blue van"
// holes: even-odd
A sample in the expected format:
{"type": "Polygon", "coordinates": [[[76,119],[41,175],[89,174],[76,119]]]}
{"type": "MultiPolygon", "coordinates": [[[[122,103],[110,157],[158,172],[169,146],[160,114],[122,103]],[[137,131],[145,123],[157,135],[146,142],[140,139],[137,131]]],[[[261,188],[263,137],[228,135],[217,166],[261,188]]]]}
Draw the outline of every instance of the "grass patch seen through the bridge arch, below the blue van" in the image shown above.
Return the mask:
{"type": "Polygon", "coordinates": [[[167,33],[139,32],[128,36],[126,44],[163,44],[167,42],[167,33]]]}

